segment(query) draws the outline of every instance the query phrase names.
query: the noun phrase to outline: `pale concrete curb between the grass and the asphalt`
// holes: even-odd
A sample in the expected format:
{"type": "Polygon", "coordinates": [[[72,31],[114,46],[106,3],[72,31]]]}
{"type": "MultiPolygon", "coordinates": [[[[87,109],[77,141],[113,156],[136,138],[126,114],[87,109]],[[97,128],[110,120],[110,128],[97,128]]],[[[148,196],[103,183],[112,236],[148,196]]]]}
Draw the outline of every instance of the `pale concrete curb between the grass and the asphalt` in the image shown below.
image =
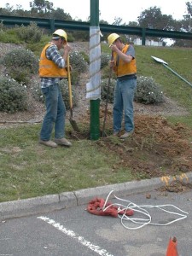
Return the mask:
{"type": "Polygon", "coordinates": [[[155,177],[141,181],[80,189],[78,191],[65,192],[59,195],[44,195],[20,201],[3,202],[0,203],[0,221],[85,205],[95,197],[103,197],[105,199],[112,190],[113,194],[110,198],[113,198],[113,195],[125,196],[149,192],[169,184],[176,179],[190,183],[192,182],[192,172],[183,173],[182,175],[175,177],[155,177]]]}

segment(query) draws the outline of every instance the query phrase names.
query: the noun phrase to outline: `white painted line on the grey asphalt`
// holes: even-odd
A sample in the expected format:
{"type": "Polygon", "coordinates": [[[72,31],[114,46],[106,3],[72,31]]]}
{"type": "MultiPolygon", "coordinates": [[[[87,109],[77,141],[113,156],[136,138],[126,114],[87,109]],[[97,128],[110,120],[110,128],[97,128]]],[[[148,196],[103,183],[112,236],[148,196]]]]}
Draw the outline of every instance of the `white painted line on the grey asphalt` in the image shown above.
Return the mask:
{"type": "Polygon", "coordinates": [[[77,239],[79,243],[81,243],[85,247],[90,248],[91,251],[94,251],[95,253],[101,256],[113,256],[113,254],[108,253],[107,250],[102,249],[101,247],[94,245],[90,241],[85,240],[83,236],[79,236],[75,234],[73,230],[67,230],[65,227],[63,227],[63,225],[56,223],[54,219],[51,219],[45,216],[39,216],[38,218],[44,220],[44,222],[52,225],[55,229],[60,230],[62,233],[66,234],[67,236],[71,236],[72,238],[77,239]]]}

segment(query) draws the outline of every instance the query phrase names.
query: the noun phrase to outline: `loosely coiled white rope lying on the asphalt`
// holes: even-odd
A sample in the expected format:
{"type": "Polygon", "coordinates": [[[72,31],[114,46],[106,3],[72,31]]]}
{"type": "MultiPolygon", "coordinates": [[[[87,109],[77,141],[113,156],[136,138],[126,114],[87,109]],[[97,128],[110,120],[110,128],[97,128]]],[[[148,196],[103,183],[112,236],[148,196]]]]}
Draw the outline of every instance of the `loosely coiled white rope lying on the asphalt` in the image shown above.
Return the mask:
{"type": "Polygon", "coordinates": [[[147,224],[152,224],[152,225],[157,225],[157,226],[166,226],[166,225],[172,224],[174,222],[177,222],[179,220],[182,220],[183,218],[187,218],[187,215],[189,214],[188,212],[184,212],[183,210],[181,210],[178,207],[175,207],[172,204],[166,204],[166,205],[160,205],[160,206],[152,206],[152,205],[137,206],[137,204],[135,204],[131,201],[125,200],[125,199],[121,199],[121,198],[117,197],[116,195],[114,195],[114,197],[119,201],[125,202],[125,205],[120,204],[120,203],[113,203],[113,204],[110,204],[108,207],[106,207],[106,205],[108,203],[108,198],[112,193],[113,193],[113,190],[108,193],[107,199],[105,201],[104,206],[102,207],[102,210],[104,212],[109,207],[116,206],[116,207],[119,207],[118,208],[118,213],[121,212],[121,211],[125,211],[124,214],[118,214],[118,217],[121,219],[121,224],[126,229],[129,229],[129,230],[141,229],[141,228],[143,228],[143,226],[145,226],[147,224]],[[173,208],[177,209],[177,211],[180,211],[182,213],[168,211],[168,210],[165,209],[165,207],[173,207],[173,208]],[[163,212],[167,212],[167,213],[170,213],[170,214],[175,214],[175,215],[178,216],[178,218],[176,218],[172,221],[166,222],[165,224],[153,223],[152,222],[152,217],[150,216],[149,212],[146,210],[146,209],[151,209],[151,208],[157,208],[157,209],[159,209],[163,212]],[[126,212],[129,211],[129,210],[133,210],[134,214],[135,214],[135,212],[143,214],[143,218],[134,218],[133,216],[125,215],[126,212]],[[125,224],[125,222],[126,222],[126,224],[125,224]],[[131,226],[129,224],[137,224],[137,226],[131,226]]]}

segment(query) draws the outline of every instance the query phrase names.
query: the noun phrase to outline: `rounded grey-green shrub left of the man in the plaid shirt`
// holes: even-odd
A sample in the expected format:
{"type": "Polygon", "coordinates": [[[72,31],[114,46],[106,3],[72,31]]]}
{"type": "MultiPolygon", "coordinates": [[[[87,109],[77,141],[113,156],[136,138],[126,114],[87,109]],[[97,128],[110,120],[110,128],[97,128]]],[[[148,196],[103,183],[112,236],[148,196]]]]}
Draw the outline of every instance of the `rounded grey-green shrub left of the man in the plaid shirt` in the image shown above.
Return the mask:
{"type": "Polygon", "coordinates": [[[6,73],[17,82],[27,84],[31,74],[38,73],[38,57],[29,49],[13,49],[2,60],[6,73]]]}

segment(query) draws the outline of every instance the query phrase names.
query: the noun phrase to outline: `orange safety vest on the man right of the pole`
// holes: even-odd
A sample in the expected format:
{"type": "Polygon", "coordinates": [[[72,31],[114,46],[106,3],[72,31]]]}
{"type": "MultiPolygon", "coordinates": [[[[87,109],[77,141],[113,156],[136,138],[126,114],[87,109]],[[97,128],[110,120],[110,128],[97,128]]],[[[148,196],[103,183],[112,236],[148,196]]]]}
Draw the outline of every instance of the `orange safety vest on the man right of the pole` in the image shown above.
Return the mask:
{"type": "MultiPolygon", "coordinates": [[[[129,48],[129,44],[126,44],[124,49],[122,49],[122,52],[125,54],[129,48]]],[[[131,75],[131,74],[136,74],[137,73],[137,67],[136,67],[136,59],[132,59],[131,62],[126,63],[122,59],[120,59],[117,55],[116,52],[114,52],[113,55],[113,60],[114,60],[114,67],[113,67],[113,72],[116,74],[116,76],[122,77],[125,75],[131,75]]]]}

